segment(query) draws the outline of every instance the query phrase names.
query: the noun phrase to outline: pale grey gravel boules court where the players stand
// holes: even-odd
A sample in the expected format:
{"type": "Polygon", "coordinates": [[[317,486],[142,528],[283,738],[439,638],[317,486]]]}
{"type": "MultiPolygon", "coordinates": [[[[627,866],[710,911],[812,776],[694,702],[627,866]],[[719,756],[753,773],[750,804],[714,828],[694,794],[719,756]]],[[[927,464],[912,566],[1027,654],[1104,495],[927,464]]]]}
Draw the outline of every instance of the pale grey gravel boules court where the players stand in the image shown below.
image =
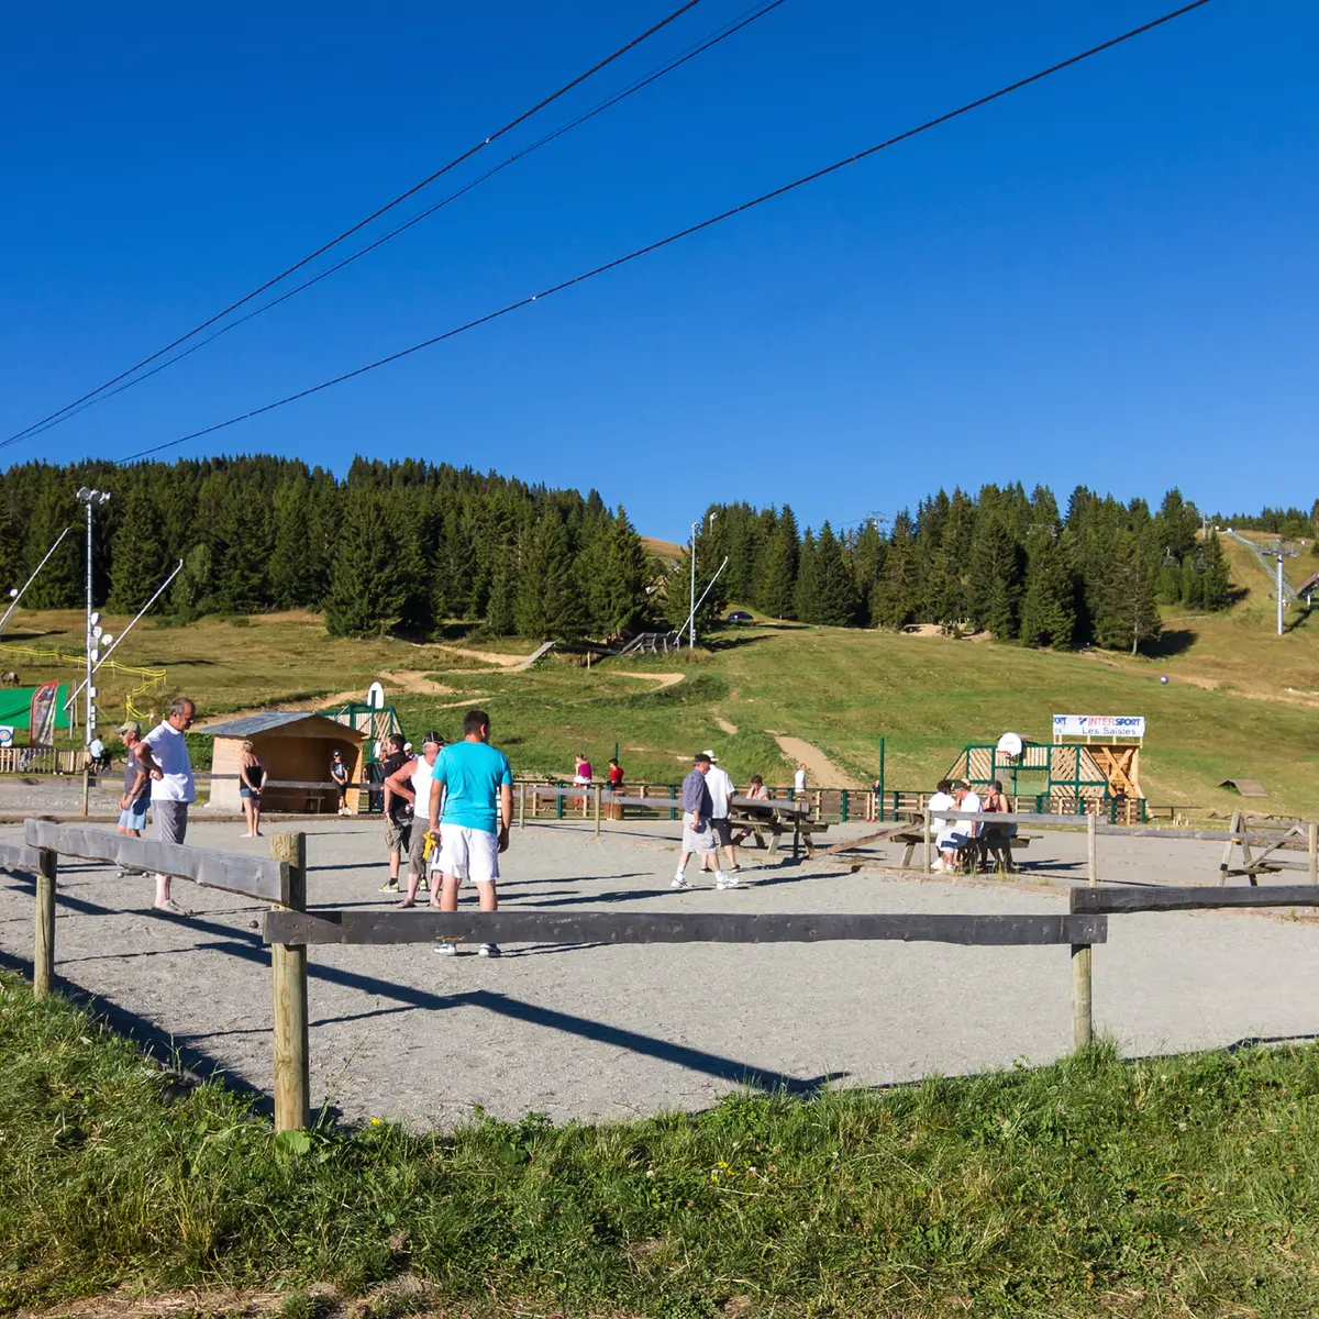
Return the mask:
{"type": "MultiPolygon", "coordinates": [[[[383,906],[379,820],[305,828],[311,906],[383,906]]],[[[867,826],[834,830],[857,836],[867,826]]],[[[539,824],[513,831],[505,905],[557,910],[1058,911],[1039,885],[921,882],[839,859],[748,852],[745,892],[674,893],[675,826],[539,824]]],[[[15,838],[16,828],[4,831],[15,838]]],[[[268,855],[202,815],[189,840],[268,855]]],[[[1084,881],[1084,836],[1033,844],[1035,876],[1084,881]]],[[[872,849],[876,851],[876,849],[872,849]]],[[[878,848],[889,861],[894,848],[878,848]]],[[[1211,882],[1221,847],[1100,839],[1109,882],[1211,882]]],[[[694,864],[689,874],[695,878],[694,864]]],[[[1295,878],[1294,876],[1291,878],[1295,878]]],[[[70,860],[61,871],[57,975],[171,1033],[261,1091],[270,1084],[269,954],[261,905],[177,893],[187,921],[149,913],[150,881],[70,860]]],[[[32,890],[0,878],[0,952],[29,968],[32,890]]],[[[1095,950],[1096,1028],[1132,1054],[1315,1031],[1319,927],[1239,913],[1115,917],[1095,950]]],[[[313,1103],[350,1119],[451,1125],[474,1104],[565,1120],[696,1109],[739,1084],[806,1093],[1046,1062],[1071,1042],[1066,947],[917,943],[509,947],[499,962],[430,944],[310,950],[313,1103]]]]}

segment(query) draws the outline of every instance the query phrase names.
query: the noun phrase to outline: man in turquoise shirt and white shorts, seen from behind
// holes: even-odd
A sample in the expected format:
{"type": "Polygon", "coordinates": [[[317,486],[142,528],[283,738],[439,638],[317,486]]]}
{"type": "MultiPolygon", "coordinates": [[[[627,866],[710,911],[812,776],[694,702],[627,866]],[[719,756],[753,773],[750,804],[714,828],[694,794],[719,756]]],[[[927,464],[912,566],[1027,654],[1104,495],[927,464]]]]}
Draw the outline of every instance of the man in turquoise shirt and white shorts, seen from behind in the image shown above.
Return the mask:
{"type": "MultiPolygon", "coordinates": [[[[439,839],[441,911],[458,910],[458,886],[476,885],[483,911],[499,907],[495,881],[499,853],[508,851],[513,822],[513,770],[508,756],[489,745],[491,720],[484,710],[463,716],[463,740],[451,743],[430,773],[430,832],[439,839]],[[443,813],[441,813],[443,803],[443,813]]],[[[435,952],[452,958],[454,943],[437,943],[435,952]]],[[[483,943],[483,958],[497,958],[497,943],[483,943]]]]}

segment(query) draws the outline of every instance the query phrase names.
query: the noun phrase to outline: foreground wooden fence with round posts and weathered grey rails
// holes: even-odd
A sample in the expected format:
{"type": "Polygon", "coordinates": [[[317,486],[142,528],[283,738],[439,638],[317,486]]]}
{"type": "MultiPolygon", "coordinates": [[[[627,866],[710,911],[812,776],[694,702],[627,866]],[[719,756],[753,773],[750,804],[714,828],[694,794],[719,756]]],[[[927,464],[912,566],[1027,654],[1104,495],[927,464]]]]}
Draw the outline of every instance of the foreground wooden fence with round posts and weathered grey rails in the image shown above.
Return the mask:
{"type": "MultiPolygon", "coordinates": [[[[785,803],[778,803],[785,805],[785,803]]],[[[934,813],[942,818],[944,813],[934,813]]],[[[968,813],[947,813],[962,818],[968,813]]],[[[1008,822],[1010,816],[992,816],[1008,822]]],[[[1071,816],[1024,816],[1033,823],[1071,816]]],[[[926,813],[929,827],[930,813],[926,813]]],[[[273,1092],[277,1130],[305,1128],[311,1116],[307,1030],[307,947],[322,943],[429,943],[437,939],[509,943],[816,943],[824,940],[939,942],[967,947],[1067,944],[1071,955],[1072,1043],[1093,1039],[1093,946],[1108,940],[1108,917],[1130,911],[1223,907],[1319,906],[1316,885],[1224,889],[1211,886],[1100,886],[1095,882],[1093,816],[1091,885],[1075,888],[1066,914],[962,915],[946,913],[739,914],[574,911],[306,910],[306,835],[277,834],[270,860],[135,839],[45,820],[24,822],[24,844],[0,843],[0,867],[30,876],[36,886],[33,992],[50,993],[55,964],[55,888],[59,856],[157,871],[208,888],[274,904],[265,917],[272,946],[273,1092]]]]}

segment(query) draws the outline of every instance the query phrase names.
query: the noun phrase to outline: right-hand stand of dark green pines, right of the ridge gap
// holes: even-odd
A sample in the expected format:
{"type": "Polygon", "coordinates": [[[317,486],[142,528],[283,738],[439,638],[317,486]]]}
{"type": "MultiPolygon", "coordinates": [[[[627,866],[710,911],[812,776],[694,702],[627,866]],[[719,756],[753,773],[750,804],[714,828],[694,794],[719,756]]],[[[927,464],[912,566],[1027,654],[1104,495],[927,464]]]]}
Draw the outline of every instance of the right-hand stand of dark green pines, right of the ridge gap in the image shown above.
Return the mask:
{"type": "MultiPolygon", "coordinates": [[[[1228,566],[1217,536],[1202,542],[1200,516],[1178,491],[1158,513],[1078,487],[1059,512],[1046,487],[956,489],[898,513],[886,533],[865,521],[842,534],[826,522],[798,536],[791,508],[720,504],[707,510],[698,568],[707,599],[774,617],[835,627],[940,624],[988,630],[1022,645],[1093,644],[1138,649],[1159,634],[1159,604],[1224,609],[1228,566]]],[[[670,609],[686,617],[690,562],[670,578],[670,609]],[[681,579],[681,580],[679,580],[681,579]]]]}

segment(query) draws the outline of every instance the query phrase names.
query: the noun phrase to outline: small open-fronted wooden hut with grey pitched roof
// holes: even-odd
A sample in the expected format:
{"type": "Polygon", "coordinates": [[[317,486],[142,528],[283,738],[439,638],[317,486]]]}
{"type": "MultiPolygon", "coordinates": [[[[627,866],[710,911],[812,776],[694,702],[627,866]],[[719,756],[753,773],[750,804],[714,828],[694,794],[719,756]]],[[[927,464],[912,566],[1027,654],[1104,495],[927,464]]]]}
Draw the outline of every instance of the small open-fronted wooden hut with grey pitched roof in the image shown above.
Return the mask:
{"type": "MultiPolygon", "coordinates": [[[[306,711],[270,710],[260,715],[232,719],[228,723],[199,728],[215,739],[211,756],[211,806],[239,811],[239,762],[243,743],[251,741],[266,772],[264,810],[330,811],[339,806],[339,794],[330,778],[334,752],[343,753],[348,782],[360,783],[363,774],[363,741],[365,735],[355,728],[306,711]]],[[[357,810],[356,787],[348,789],[348,806],[357,810]]]]}

